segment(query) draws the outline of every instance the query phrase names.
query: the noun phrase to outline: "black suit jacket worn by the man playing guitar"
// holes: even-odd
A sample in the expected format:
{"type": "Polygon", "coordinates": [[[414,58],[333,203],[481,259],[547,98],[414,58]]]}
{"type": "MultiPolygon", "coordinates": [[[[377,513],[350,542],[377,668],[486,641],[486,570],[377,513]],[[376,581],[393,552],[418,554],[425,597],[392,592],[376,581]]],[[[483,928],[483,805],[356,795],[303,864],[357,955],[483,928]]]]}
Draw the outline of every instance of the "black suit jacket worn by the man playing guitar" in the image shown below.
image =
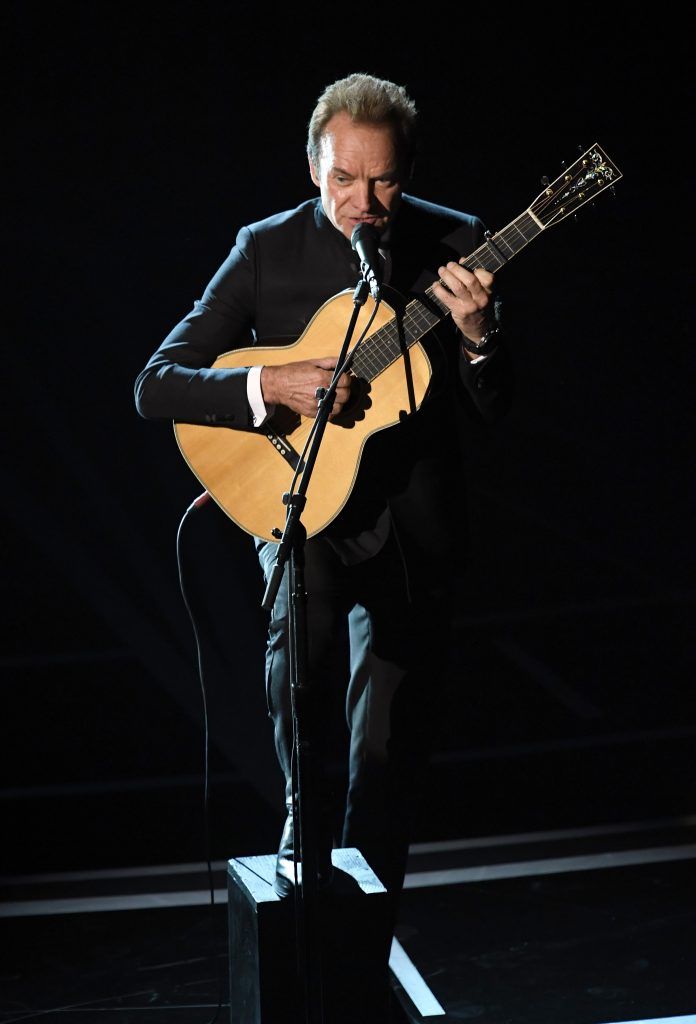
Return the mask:
{"type": "MultiPolygon", "coordinates": [[[[484,226],[469,214],[403,196],[394,219],[390,286],[422,294],[448,260],[469,255],[484,226]]],[[[167,336],[135,385],[136,406],[149,419],[252,429],[247,371],[216,370],[222,352],[298,338],[318,307],[354,288],[359,261],[327,218],[318,199],[243,227],[203,298],[167,336]]],[[[509,401],[505,353],[472,366],[449,317],[424,339],[434,368],[421,410],[369,438],[346,507],[331,524],[335,537],[369,529],[388,504],[403,543],[427,563],[451,547],[462,522],[462,467],[455,410],[486,420],[509,401]]]]}

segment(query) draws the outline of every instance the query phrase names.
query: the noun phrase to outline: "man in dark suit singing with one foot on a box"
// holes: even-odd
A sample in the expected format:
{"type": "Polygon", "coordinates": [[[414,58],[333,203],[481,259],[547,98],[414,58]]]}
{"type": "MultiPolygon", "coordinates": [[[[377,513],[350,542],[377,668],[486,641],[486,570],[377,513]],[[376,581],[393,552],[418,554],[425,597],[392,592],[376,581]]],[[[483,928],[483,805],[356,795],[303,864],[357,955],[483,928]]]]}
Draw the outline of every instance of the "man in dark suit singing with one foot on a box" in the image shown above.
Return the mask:
{"type": "MultiPolygon", "coordinates": [[[[379,233],[383,276],[401,295],[432,286],[442,323],[423,339],[433,376],[422,408],[372,436],[353,490],[334,522],[305,548],[310,719],[321,750],[337,691],[350,729],[342,834],[332,837],[329,780],[319,773],[319,876],[332,843],[357,847],[396,901],[405,870],[438,679],[447,653],[452,572],[464,531],[458,408],[486,420],[506,408],[507,362],[493,278],[459,260],[483,241],[480,220],[404,191],[416,153],[417,113],[403,88],[368,75],[329,86],[309,123],[307,153],[319,198],[243,227],[203,299],[165,339],[136,383],[146,418],[261,428],[278,406],[314,417],[342,338],[325,356],[221,370],[234,347],[298,338],[319,306],[359,279],[351,247],[357,225],[379,233]]],[[[351,376],[338,382],[332,417],[346,407],[351,376]]],[[[257,539],[268,578],[276,545],[257,539]]],[[[293,730],[288,594],[270,616],[267,697],[286,777],[288,820],[276,890],[292,891],[293,730]]]]}

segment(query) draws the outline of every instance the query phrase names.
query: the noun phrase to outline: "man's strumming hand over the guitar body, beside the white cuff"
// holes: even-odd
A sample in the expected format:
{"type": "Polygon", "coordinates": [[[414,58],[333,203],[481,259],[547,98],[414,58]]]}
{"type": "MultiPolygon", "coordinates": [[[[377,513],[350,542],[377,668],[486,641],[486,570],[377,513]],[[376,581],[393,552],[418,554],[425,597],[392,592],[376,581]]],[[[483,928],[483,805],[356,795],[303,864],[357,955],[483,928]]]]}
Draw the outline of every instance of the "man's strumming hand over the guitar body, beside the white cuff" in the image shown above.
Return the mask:
{"type": "MultiPolygon", "coordinates": [[[[264,367],[261,371],[261,392],[267,406],[287,406],[300,416],[313,419],[317,412],[316,389],[328,388],[336,369],[336,356],[284,362],[279,367],[264,367]]],[[[350,377],[341,374],[331,419],[339,415],[350,396],[350,377]]]]}

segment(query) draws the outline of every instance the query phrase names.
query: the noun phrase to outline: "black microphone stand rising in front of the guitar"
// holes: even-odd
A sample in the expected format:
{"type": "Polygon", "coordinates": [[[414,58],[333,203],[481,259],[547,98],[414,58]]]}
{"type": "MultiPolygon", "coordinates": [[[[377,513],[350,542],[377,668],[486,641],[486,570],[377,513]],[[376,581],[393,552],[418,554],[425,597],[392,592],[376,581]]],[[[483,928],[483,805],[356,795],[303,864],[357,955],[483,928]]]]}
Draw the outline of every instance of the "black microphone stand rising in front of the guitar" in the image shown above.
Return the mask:
{"type": "MultiPolygon", "coordinates": [[[[307,487],[319,452],[329,416],[334,404],[338,377],[348,354],[355,324],[367,298],[369,286],[363,271],[353,293],[353,311],[339,355],[334,377],[325,390],[317,389],[318,408],[315,430],[298,487],[282,496],[287,506],[286,526],[278,543],[275,563],[268,579],[261,606],[270,611],[275,602],[289,562],[290,690],[293,716],[293,750],[297,785],[293,779],[293,837],[296,867],[295,927],[297,936],[298,977],[304,997],[307,1024],[323,1024],[320,933],[317,901],[316,811],[313,779],[313,739],[305,730],[304,717],[310,681],[307,678],[307,593],[304,582],[304,545],[307,539],[301,516],[307,487]],[[323,394],[318,392],[323,391],[323,394]],[[301,864],[298,864],[298,861],[301,864]]],[[[279,534],[279,531],[277,531],[279,534]]]]}

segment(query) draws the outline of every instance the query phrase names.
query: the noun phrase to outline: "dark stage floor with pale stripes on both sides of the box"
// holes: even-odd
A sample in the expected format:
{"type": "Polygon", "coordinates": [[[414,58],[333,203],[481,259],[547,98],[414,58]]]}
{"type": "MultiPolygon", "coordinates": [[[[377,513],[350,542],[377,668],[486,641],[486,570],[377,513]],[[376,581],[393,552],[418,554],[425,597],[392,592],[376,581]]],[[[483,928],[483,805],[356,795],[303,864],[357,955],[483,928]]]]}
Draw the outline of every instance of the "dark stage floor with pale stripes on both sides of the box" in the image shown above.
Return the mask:
{"type": "MultiPolygon", "coordinates": [[[[214,906],[194,863],[5,879],[0,1022],[226,1024],[212,878],[214,906]]],[[[695,889],[696,817],[417,845],[395,1021],[692,1024],[695,889]]]]}

